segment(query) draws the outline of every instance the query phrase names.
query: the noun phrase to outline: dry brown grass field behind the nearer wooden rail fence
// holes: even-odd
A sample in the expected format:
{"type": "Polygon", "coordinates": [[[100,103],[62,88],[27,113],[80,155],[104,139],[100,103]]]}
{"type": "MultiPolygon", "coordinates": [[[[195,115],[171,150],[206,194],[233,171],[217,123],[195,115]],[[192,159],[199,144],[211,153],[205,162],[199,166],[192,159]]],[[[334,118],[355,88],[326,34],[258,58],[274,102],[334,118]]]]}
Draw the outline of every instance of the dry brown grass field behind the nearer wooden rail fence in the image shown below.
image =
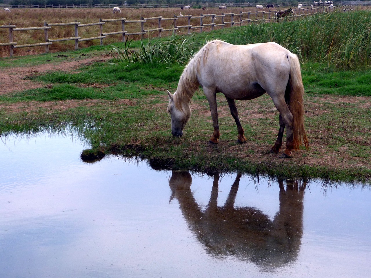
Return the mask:
{"type": "MultiPolygon", "coordinates": [[[[255,8],[250,8],[251,11],[255,11],[255,8]]],[[[180,10],[179,8],[153,8],[153,9],[121,9],[121,13],[112,13],[112,9],[12,9],[11,13],[1,13],[0,12],[0,25],[14,24],[17,27],[40,27],[44,25],[44,21],[47,23],[62,23],[62,22],[74,22],[80,21],[81,23],[93,23],[98,22],[100,18],[102,19],[115,19],[115,18],[126,18],[127,20],[139,20],[141,17],[157,17],[162,16],[164,18],[174,17],[174,15],[192,14],[193,16],[200,16],[200,14],[217,14],[221,13],[240,13],[240,11],[248,11],[248,9],[241,9],[240,7],[229,8],[227,11],[219,10],[217,8],[209,8],[206,10],[202,9],[190,9],[190,10],[180,10]]],[[[238,21],[239,17],[235,17],[235,21],[238,21]]],[[[225,21],[231,21],[230,16],[226,16],[225,21]]],[[[216,24],[221,23],[221,18],[217,18],[214,21],[216,24]]],[[[203,23],[211,23],[211,17],[206,17],[203,23]]],[[[246,24],[246,23],[244,23],[246,24]]],[[[177,25],[188,25],[188,20],[186,18],[179,18],[177,20],[177,25]]],[[[191,25],[200,25],[200,19],[191,19],[191,25]]],[[[228,24],[229,25],[229,24],[228,24]]],[[[230,25],[229,25],[230,26],[230,25]]],[[[145,23],[144,29],[154,29],[158,27],[158,20],[149,20],[145,23]]],[[[161,27],[164,29],[170,29],[173,27],[173,20],[164,20],[161,23],[161,27]]],[[[228,27],[228,26],[227,26],[228,27]]],[[[221,27],[215,27],[215,29],[221,27]]],[[[121,30],[121,21],[107,22],[103,26],[103,32],[116,32],[121,30]]],[[[140,32],[140,23],[127,23],[125,24],[125,30],[128,32],[140,32]]],[[[210,27],[204,27],[203,32],[210,30],[210,27]]],[[[187,29],[181,30],[181,33],[186,33],[187,29]]],[[[194,29],[192,32],[200,32],[199,29],[194,29]]],[[[162,36],[166,34],[171,34],[171,32],[164,32],[162,36]]],[[[49,39],[59,39],[65,37],[75,36],[74,26],[53,26],[48,30],[49,39]]],[[[99,36],[99,26],[86,26],[79,28],[79,36],[95,37],[99,36]]],[[[150,37],[156,37],[157,32],[149,34],[150,37]]],[[[140,38],[140,36],[137,36],[140,38]]],[[[146,36],[147,37],[147,36],[146,36]]],[[[16,31],[13,32],[13,41],[18,44],[30,44],[30,43],[40,43],[45,42],[45,35],[43,30],[35,31],[16,31]]],[[[121,35],[111,35],[104,39],[104,44],[120,42],[121,35]]],[[[0,42],[9,42],[9,29],[0,29],[0,42]]],[[[98,45],[99,40],[90,40],[86,42],[79,42],[79,48],[98,45]]],[[[50,52],[59,52],[74,49],[74,41],[65,42],[54,42],[49,46],[50,52]]],[[[45,52],[45,47],[24,47],[14,49],[15,56],[21,56],[26,54],[37,54],[45,52]]],[[[9,46],[0,47],[0,56],[9,56],[9,46]]]]}

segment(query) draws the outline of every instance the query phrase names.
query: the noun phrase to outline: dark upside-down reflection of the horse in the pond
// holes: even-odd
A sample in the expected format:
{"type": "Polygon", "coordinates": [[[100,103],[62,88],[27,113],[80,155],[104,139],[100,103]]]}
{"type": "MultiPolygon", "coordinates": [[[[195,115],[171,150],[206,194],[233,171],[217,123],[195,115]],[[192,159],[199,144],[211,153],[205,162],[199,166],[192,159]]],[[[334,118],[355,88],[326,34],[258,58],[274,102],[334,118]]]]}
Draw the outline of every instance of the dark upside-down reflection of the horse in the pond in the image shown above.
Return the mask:
{"type": "Polygon", "coordinates": [[[279,180],[279,211],[273,221],[252,207],[234,207],[241,174],[237,174],[223,206],[217,205],[219,175],[214,176],[210,201],[201,211],[191,192],[189,172],[173,171],[170,201],[176,198],[190,229],[207,251],[235,255],[264,268],[287,265],[297,258],[303,234],[303,198],[306,182],[279,180]]]}

